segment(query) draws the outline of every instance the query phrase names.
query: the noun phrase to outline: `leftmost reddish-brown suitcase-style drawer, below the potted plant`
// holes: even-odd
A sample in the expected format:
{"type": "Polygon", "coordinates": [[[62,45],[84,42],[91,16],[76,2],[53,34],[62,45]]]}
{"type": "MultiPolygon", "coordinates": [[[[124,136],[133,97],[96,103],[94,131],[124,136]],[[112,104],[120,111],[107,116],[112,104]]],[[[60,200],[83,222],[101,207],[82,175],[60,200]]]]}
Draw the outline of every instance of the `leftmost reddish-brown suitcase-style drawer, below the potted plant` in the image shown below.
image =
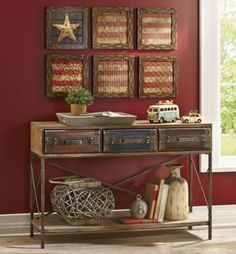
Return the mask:
{"type": "Polygon", "coordinates": [[[46,154],[100,151],[100,130],[44,130],[44,152],[46,154]]]}

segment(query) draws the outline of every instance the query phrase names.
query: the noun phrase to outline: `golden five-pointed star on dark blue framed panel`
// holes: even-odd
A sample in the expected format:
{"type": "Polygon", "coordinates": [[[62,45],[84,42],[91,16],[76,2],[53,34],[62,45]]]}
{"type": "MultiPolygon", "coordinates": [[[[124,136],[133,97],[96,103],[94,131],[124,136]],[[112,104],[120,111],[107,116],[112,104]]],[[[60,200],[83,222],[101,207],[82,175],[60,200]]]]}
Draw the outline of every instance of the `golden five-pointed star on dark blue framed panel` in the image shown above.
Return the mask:
{"type": "Polygon", "coordinates": [[[69,20],[68,13],[66,13],[63,25],[62,24],[53,24],[53,26],[61,31],[60,36],[57,39],[58,42],[62,41],[66,37],[69,37],[73,41],[76,41],[76,37],[75,37],[75,34],[74,34],[73,30],[78,28],[79,24],[71,24],[70,20],[69,20]]]}

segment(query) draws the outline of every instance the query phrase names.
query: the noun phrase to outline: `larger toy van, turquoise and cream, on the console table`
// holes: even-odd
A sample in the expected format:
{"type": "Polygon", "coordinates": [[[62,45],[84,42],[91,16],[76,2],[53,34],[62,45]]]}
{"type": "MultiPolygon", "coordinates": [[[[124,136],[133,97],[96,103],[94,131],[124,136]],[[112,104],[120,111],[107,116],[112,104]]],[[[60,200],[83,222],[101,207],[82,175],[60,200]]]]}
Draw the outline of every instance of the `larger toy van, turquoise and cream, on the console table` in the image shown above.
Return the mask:
{"type": "Polygon", "coordinates": [[[175,122],[179,119],[179,106],[173,101],[159,101],[148,108],[147,119],[150,123],[175,122]]]}

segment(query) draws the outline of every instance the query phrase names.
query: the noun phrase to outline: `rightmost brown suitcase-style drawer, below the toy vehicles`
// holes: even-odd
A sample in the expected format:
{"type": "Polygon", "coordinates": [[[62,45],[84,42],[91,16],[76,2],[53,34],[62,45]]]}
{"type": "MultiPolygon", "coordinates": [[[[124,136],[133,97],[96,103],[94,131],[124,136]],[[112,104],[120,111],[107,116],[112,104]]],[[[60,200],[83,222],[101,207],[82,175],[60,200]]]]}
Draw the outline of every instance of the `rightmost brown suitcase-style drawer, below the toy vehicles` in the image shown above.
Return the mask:
{"type": "Polygon", "coordinates": [[[210,128],[160,128],[159,151],[211,150],[210,128]]]}

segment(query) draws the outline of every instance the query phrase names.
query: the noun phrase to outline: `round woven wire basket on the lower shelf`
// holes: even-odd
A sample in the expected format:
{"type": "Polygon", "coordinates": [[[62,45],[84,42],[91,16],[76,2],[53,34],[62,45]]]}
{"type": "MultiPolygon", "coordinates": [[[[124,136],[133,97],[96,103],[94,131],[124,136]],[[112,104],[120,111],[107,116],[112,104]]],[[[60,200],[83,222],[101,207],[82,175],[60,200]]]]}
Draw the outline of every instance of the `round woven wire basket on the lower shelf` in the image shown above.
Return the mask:
{"type": "Polygon", "coordinates": [[[69,180],[60,182],[51,192],[53,210],[59,213],[70,225],[98,224],[112,213],[115,199],[109,188],[101,186],[100,182],[83,178],[73,184],[69,180]]]}

